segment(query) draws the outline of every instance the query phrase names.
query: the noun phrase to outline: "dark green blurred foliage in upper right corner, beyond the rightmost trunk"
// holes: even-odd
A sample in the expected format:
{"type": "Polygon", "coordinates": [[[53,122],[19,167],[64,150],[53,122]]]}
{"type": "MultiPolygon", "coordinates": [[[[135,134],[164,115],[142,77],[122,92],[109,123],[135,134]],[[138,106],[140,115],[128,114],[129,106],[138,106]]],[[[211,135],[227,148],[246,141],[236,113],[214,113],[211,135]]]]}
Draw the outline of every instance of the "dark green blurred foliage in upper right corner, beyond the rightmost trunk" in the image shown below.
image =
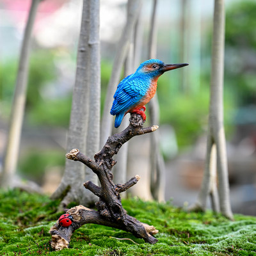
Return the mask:
{"type": "Polygon", "coordinates": [[[237,1],[226,15],[226,84],[236,106],[256,102],[256,1],[237,1]]]}

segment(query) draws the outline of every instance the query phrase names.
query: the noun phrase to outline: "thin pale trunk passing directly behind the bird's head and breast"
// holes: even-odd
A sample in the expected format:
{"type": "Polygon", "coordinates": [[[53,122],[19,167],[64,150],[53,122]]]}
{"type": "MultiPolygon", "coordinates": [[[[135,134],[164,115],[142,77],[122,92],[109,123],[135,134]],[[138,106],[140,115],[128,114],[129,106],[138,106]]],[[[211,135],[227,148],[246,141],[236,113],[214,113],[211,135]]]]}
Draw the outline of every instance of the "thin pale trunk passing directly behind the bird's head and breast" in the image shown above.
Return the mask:
{"type": "MultiPolygon", "coordinates": [[[[157,28],[156,28],[157,0],[153,1],[150,21],[150,35],[148,38],[148,59],[156,58],[157,51],[157,28]]],[[[150,125],[159,124],[159,102],[157,93],[148,103],[150,113],[150,125]]],[[[150,136],[150,191],[154,199],[164,201],[165,170],[164,159],[159,148],[159,132],[150,136]]]]}

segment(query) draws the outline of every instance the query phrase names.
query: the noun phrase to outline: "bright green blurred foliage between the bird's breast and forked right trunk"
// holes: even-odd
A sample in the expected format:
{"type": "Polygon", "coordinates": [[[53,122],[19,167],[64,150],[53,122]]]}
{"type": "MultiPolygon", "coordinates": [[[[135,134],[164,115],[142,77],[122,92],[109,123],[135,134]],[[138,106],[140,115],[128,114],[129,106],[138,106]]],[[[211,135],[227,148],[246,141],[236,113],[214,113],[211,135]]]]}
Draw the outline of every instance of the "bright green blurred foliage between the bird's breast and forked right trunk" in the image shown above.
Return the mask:
{"type": "Polygon", "coordinates": [[[168,86],[172,87],[168,77],[161,77],[157,86],[160,122],[173,126],[179,147],[188,147],[205,132],[209,109],[209,88],[204,86],[196,95],[188,95],[180,91],[168,95],[166,92],[168,86]]]}

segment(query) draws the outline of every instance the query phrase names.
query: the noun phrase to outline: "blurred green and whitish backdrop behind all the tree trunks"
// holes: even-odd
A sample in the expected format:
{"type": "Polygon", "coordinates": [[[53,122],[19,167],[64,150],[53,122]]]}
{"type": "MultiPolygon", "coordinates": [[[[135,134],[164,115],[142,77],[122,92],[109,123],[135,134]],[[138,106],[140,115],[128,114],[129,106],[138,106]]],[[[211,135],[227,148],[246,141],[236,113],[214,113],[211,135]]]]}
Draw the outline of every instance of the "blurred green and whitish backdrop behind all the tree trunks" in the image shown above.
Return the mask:
{"type": "MultiPolygon", "coordinates": [[[[65,165],[81,2],[42,1],[33,31],[18,175],[35,182],[49,195],[60,183],[65,165]]],[[[30,3],[0,2],[0,165],[30,3]]],[[[125,24],[126,3],[100,1],[102,108],[116,43],[125,24]]],[[[204,0],[160,0],[157,6],[157,58],[165,63],[189,63],[179,72],[164,74],[157,87],[165,199],[179,206],[195,202],[204,171],[213,4],[204,0]]],[[[140,62],[147,59],[151,10],[152,2],[144,1],[140,19],[145,52],[141,52],[140,62]]],[[[230,197],[234,212],[251,215],[256,215],[255,13],[256,1],[226,1],[224,115],[230,197]]],[[[129,177],[141,176],[137,185],[140,191],[136,192],[135,186],[132,193],[147,200],[152,199],[147,193],[149,136],[140,136],[129,144],[129,156],[136,155],[141,161],[128,168],[129,177]]]]}

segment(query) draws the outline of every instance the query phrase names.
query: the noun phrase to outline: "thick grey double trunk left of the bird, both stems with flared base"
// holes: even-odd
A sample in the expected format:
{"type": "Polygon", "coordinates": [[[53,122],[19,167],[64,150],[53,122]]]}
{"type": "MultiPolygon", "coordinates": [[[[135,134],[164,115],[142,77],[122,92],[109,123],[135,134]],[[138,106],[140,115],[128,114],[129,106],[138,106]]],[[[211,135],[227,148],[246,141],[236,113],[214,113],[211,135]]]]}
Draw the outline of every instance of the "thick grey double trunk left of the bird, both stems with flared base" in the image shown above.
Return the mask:
{"type": "MultiPolygon", "coordinates": [[[[99,150],[99,99],[99,1],[84,0],[67,152],[72,148],[81,148],[92,157],[99,150]]],[[[86,179],[97,184],[94,173],[85,172],[84,164],[73,164],[66,160],[63,179],[52,198],[64,197],[60,208],[66,207],[70,202],[83,205],[92,203],[94,195],[83,187],[86,179]]]]}

